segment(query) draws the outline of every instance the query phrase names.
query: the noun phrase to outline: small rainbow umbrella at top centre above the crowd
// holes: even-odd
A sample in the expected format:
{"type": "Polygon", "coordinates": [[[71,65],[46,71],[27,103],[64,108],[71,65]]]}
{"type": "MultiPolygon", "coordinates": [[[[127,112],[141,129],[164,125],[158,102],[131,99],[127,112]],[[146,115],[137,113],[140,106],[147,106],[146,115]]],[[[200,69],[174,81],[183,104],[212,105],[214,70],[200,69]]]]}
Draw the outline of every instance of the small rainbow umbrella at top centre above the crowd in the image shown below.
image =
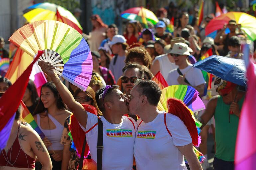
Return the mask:
{"type": "Polygon", "coordinates": [[[121,13],[121,17],[128,20],[137,20],[143,24],[147,24],[147,21],[152,24],[156,24],[158,22],[156,15],[152,11],[143,7],[129,8],[121,13]]]}

